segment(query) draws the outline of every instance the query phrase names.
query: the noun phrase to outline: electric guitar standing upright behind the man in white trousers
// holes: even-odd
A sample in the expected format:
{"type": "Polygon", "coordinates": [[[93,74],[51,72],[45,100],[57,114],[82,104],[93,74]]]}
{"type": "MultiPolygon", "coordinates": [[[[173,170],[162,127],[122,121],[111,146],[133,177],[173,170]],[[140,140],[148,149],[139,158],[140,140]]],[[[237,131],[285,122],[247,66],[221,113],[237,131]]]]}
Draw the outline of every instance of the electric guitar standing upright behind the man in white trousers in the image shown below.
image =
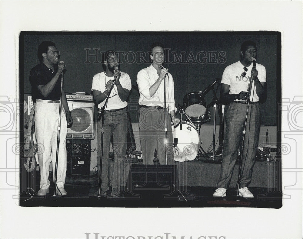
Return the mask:
{"type": "Polygon", "coordinates": [[[24,145],[24,157],[23,157],[23,166],[26,171],[32,172],[36,168],[36,153],[37,153],[37,141],[35,137],[35,133],[33,133],[34,124],[33,117],[35,114],[35,103],[31,109],[29,121],[28,121],[28,131],[26,136],[26,141],[24,145]]]}

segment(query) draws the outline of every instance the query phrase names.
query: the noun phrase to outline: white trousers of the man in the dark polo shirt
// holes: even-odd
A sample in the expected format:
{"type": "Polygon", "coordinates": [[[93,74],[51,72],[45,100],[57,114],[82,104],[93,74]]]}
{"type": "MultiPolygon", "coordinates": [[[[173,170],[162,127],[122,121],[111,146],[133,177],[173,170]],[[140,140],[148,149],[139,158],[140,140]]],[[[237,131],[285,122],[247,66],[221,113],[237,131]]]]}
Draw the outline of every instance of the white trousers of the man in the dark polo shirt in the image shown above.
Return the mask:
{"type": "MultiPolygon", "coordinates": [[[[41,101],[41,100],[39,100],[41,101]]],[[[48,100],[36,102],[35,134],[38,144],[40,168],[40,189],[48,189],[49,165],[52,157],[53,179],[55,180],[55,163],[58,137],[59,104],[48,103],[48,100]]],[[[61,132],[58,152],[57,186],[63,188],[66,176],[66,132],[67,123],[64,108],[61,113],[61,132]]]]}

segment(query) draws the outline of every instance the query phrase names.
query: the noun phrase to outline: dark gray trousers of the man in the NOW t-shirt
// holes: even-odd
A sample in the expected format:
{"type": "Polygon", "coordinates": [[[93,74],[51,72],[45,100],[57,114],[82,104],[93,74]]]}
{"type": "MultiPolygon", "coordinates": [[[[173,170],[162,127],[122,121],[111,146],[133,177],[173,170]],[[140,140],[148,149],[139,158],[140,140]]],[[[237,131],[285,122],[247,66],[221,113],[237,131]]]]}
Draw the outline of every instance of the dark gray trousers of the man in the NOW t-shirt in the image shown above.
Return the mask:
{"type": "MultiPolygon", "coordinates": [[[[247,105],[231,102],[225,114],[225,144],[218,188],[228,188],[242,144],[242,136],[246,118],[247,105]]],[[[251,174],[255,164],[256,150],[260,132],[259,103],[249,104],[246,133],[243,146],[240,188],[247,187],[251,182],[251,174]]]]}

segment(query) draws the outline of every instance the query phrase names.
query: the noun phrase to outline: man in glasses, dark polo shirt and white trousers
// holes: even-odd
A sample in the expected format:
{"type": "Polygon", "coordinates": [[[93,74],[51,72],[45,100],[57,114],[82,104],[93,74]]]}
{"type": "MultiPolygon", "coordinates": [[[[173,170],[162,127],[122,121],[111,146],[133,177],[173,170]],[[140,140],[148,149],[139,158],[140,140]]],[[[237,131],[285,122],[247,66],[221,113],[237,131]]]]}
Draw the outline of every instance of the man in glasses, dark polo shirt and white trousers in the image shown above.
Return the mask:
{"type": "MultiPolygon", "coordinates": [[[[38,46],[40,64],[33,67],[29,80],[32,85],[32,99],[35,106],[35,135],[38,145],[40,168],[39,196],[49,192],[49,164],[52,155],[53,178],[57,150],[57,127],[59,121],[59,103],[61,93],[61,73],[65,69],[63,61],[58,63],[60,53],[55,43],[44,41],[38,46]]],[[[57,189],[58,195],[67,195],[64,189],[66,176],[66,132],[67,124],[72,124],[71,112],[68,109],[66,95],[62,89],[61,133],[58,152],[57,189]]]]}

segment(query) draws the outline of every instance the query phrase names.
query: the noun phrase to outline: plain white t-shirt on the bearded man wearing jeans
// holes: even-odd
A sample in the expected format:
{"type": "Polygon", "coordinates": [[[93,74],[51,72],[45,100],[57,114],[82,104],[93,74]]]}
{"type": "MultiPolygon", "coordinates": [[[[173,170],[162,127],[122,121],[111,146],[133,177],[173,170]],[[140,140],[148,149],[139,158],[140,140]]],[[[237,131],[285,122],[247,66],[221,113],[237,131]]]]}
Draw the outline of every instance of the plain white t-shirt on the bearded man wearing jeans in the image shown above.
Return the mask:
{"type": "MultiPolygon", "coordinates": [[[[106,83],[109,80],[114,80],[114,76],[108,77],[105,75],[105,71],[101,73],[95,74],[93,77],[92,90],[98,90],[100,92],[104,92],[106,89],[106,83]]],[[[122,88],[128,89],[129,91],[132,89],[132,82],[127,73],[121,72],[121,76],[119,82],[122,88]]],[[[98,105],[98,108],[101,109],[105,104],[105,100],[98,105]]],[[[107,110],[121,109],[127,106],[126,101],[122,101],[118,95],[117,86],[115,85],[112,89],[111,95],[108,98],[107,102],[107,110]]]]}

